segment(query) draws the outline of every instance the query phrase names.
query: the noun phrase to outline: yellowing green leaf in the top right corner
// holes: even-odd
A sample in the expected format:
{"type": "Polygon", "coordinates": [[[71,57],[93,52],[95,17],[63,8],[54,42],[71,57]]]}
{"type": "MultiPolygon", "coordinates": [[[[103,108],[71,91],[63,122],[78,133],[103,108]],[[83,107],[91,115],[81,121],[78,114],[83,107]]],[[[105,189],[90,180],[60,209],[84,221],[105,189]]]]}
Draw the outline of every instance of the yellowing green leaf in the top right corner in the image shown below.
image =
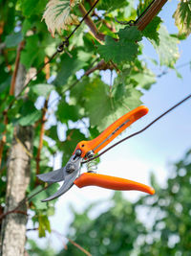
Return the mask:
{"type": "Polygon", "coordinates": [[[173,14],[175,24],[179,29],[180,35],[190,35],[191,33],[191,2],[181,1],[173,14]]]}

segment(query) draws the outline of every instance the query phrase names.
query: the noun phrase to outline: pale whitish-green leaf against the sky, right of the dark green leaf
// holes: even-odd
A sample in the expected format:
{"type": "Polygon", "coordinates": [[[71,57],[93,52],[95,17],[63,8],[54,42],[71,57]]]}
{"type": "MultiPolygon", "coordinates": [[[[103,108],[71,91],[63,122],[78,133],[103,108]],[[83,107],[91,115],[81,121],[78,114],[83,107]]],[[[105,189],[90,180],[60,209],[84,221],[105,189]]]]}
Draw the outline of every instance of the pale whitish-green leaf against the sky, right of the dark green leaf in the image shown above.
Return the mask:
{"type": "Polygon", "coordinates": [[[177,38],[169,35],[164,26],[160,26],[159,44],[153,41],[153,45],[159,54],[160,65],[174,67],[177,59],[180,58],[178,43],[177,38]]]}

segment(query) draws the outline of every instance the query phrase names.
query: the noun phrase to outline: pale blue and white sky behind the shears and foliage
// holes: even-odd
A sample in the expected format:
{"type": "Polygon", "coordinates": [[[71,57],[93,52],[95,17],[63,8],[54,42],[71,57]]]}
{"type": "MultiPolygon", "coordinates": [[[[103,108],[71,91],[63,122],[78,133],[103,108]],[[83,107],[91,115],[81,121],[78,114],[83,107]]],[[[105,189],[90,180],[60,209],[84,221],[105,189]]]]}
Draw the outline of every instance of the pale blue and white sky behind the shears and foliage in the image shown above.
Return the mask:
{"type": "MultiPolygon", "coordinates": [[[[159,13],[159,16],[165,21],[164,25],[172,34],[177,33],[172,18],[177,4],[178,1],[168,2],[159,13]]],[[[143,43],[144,55],[158,59],[153,46],[146,39],[143,43]]],[[[191,36],[180,42],[180,59],[176,64],[177,67],[191,60],[190,45],[191,36]]],[[[151,63],[149,65],[154,68],[151,63]]],[[[160,74],[161,70],[155,69],[154,72],[160,74]]],[[[144,128],[169,107],[177,104],[191,93],[190,65],[179,68],[179,72],[182,79],[177,77],[175,71],[169,71],[166,75],[158,78],[157,83],[150,90],[144,92],[141,101],[149,108],[149,113],[118,136],[114,142],[144,128]]],[[[104,80],[109,79],[109,74],[105,73],[104,80]]],[[[170,175],[172,163],[178,161],[191,148],[190,134],[191,100],[180,105],[143,133],[101,156],[97,173],[116,175],[150,185],[149,176],[151,172],[154,172],[162,189],[165,186],[166,178],[170,175]]],[[[59,155],[54,163],[54,169],[57,168],[60,168],[59,155]]],[[[64,237],[67,235],[70,222],[73,221],[70,204],[76,211],[83,212],[90,203],[100,201],[96,210],[91,213],[91,218],[96,218],[97,215],[108,209],[108,199],[113,196],[113,193],[113,191],[98,187],[78,189],[74,186],[65,196],[59,198],[55,205],[55,215],[50,220],[53,229],[63,234],[63,242],[67,242],[64,237]],[[102,199],[105,201],[102,202],[102,199]]],[[[123,195],[129,200],[135,201],[143,193],[132,191],[124,192],[123,195]]],[[[31,224],[29,222],[29,227],[31,224]]],[[[46,246],[46,240],[37,239],[36,232],[30,232],[29,237],[38,241],[40,245],[46,246]]],[[[49,239],[55,250],[63,248],[63,243],[55,235],[52,234],[49,239]]]]}

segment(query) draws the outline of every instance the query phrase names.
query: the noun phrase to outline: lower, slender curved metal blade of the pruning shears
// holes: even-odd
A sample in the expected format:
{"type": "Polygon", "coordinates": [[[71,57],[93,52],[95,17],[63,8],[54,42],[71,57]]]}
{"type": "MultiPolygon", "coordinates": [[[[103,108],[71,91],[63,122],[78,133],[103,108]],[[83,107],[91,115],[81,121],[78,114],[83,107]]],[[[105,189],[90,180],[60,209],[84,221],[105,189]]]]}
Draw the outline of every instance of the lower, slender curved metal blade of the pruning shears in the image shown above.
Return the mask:
{"type": "Polygon", "coordinates": [[[78,173],[78,170],[76,170],[73,174],[71,175],[66,175],[65,176],[65,181],[64,181],[64,184],[61,186],[61,188],[55,192],[53,194],[53,196],[49,197],[49,198],[46,198],[46,199],[43,199],[41,201],[49,201],[49,200],[53,200],[54,198],[58,198],[60,197],[61,195],[63,195],[65,192],[67,192],[73,185],[74,185],[74,180],[76,178],[76,175],[78,173]]]}

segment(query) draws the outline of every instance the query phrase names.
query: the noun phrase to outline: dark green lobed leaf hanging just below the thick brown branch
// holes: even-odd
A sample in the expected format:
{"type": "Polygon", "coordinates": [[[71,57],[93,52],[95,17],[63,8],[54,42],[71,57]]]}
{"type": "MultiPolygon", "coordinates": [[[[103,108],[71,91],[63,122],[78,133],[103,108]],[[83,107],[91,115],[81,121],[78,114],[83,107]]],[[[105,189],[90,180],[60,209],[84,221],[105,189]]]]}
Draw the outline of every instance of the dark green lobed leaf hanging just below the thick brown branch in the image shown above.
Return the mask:
{"type": "Polygon", "coordinates": [[[97,47],[101,58],[106,61],[113,60],[116,63],[132,61],[138,55],[138,43],[141,40],[141,33],[136,27],[126,27],[119,30],[119,40],[116,41],[110,36],[105,37],[105,45],[97,47]]]}

